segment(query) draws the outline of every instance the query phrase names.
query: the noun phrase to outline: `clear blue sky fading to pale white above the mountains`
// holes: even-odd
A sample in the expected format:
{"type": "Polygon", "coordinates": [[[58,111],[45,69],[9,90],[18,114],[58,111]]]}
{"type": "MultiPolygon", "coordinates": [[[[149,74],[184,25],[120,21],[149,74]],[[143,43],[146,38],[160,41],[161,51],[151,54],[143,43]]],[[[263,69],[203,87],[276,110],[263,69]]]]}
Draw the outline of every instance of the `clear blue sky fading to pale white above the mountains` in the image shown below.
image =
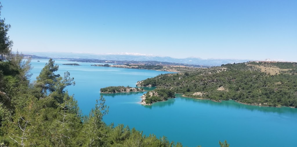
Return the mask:
{"type": "Polygon", "coordinates": [[[2,0],[19,52],[297,61],[296,0],[2,0]]]}

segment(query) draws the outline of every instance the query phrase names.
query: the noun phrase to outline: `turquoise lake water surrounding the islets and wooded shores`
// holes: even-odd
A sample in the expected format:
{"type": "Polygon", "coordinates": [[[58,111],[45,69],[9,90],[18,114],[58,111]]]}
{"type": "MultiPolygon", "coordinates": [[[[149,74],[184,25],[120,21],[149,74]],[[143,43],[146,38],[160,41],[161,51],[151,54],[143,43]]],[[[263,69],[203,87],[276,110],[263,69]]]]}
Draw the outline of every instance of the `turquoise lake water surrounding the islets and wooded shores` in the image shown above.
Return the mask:
{"type": "MultiPolygon", "coordinates": [[[[32,60],[31,80],[35,80],[46,60],[32,60]]],[[[145,69],[94,67],[95,63],[59,60],[58,73],[69,71],[75,86],[67,87],[83,114],[88,114],[100,97],[100,88],[131,86],[139,80],[161,72],[145,69]],[[78,63],[82,66],[62,65],[78,63]]],[[[96,63],[98,64],[98,63],[96,63]]],[[[124,124],[142,130],[144,134],[165,135],[184,146],[219,147],[219,140],[227,140],[231,147],[296,147],[297,109],[251,106],[235,101],[213,102],[176,95],[175,99],[140,105],[138,93],[103,94],[109,113],[105,123],[124,124]]]]}

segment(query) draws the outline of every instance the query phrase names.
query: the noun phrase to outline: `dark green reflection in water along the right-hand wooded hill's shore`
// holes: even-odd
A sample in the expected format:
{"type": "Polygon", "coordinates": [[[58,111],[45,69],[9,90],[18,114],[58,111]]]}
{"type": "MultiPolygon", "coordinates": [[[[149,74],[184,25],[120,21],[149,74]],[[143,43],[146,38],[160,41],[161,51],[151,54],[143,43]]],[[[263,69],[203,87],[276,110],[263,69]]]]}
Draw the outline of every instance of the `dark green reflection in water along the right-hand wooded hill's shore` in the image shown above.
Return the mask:
{"type": "Polygon", "coordinates": [[[296,108],[290,108],[290,107],[265,107],[265,106],[254,106],[254,105],[246,105],[246,104],[241,104],[238,103],[234,100],[227,100],[227,101],[222,101],[222,102],[214,102],[208,99],[194,99],[194,98],[189,98],[189,97],[182,97],[182,94],[176,94],[176,97],[181,98],[185,101],[188,102],[199,102],[207,105],[212,105],[212,106],[218,106],[218,107],[232,107],[236,109],[247,109],[251,111],[262,111],[262,112],[273,112],[273,113],[297,113],[296,108]]]}

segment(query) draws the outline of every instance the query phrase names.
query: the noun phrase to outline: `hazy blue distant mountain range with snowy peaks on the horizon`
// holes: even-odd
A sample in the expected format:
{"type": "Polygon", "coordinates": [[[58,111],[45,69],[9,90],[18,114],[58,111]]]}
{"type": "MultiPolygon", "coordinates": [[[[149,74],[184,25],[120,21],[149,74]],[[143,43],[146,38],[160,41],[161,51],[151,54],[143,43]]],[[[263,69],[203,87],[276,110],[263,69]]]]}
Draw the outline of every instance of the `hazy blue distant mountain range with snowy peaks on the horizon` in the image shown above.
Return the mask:
{"type": "Polygon", "coordinates": [[[241,63],[251,61],[249,59],[201,59],[189,57],[176,59],[172,57],[162,57],[152,54],[141,53],[110,53],[110,54],[93,54],[93,53],[66,53],[66,52],[25,52],[24,54],[35,55],[40,57],[50,57],[53,59],[99,59],[99,60],[117,60],[117,61],[161,61],[184,64],[196,64],[206,66],[220,66],[228,63],[241,63]]]}

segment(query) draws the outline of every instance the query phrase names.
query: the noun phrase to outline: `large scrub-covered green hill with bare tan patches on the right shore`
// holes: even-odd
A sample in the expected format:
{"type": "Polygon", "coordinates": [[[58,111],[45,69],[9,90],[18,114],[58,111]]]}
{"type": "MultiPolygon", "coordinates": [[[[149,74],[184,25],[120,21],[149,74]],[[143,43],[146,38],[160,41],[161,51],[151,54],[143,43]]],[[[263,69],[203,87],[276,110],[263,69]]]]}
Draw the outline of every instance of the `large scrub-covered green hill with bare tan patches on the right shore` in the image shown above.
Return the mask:
{"type": "Polygon", "coordinates": [[[291,62],[223,64],[195,72],[159,75],[140,81],[137,86],[157,86],[187,97],[215,101],[234,99],[252,105],[296,108],[296,69],[296,63],[291,62]],[[265,68],[265,72],[261,72],[260,67],[265,68]],[[266,73],[268,67],[278,69],[279,73],[266,73]]]}

